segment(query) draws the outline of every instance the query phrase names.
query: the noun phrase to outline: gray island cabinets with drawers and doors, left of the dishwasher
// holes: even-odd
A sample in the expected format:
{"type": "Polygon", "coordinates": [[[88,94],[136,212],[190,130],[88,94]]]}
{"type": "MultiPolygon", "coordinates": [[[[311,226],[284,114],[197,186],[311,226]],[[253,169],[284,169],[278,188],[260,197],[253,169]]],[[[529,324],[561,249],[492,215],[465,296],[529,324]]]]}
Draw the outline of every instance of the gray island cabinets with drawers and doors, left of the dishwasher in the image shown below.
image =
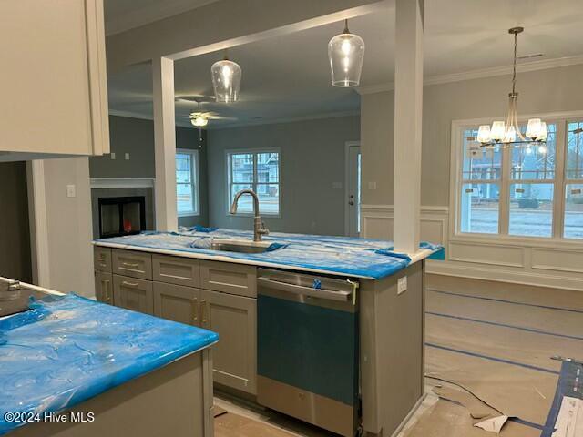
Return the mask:
{"type": "Polygon", "coordinates": [[[213,380],[257,394],[257,269],[95,248],[97,300],[219,333],[213,380]]]}

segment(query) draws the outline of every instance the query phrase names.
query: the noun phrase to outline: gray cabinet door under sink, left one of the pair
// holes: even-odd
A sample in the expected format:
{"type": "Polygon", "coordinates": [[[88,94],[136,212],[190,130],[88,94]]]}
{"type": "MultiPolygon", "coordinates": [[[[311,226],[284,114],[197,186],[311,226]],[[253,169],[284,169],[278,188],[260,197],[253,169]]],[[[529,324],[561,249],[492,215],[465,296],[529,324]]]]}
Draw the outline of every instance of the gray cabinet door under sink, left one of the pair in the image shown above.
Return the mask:
{"type": "Polygon", "coordinates": [[[199,326],[200,290],[154,282],[154,315],[199,326]]]}

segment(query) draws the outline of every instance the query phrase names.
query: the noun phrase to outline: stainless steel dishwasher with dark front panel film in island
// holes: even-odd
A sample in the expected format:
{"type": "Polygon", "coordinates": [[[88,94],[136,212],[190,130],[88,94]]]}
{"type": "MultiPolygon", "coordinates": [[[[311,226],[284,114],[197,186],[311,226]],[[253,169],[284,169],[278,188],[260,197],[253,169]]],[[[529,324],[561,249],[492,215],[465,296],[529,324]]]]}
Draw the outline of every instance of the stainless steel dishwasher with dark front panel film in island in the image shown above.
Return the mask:
{"type": "Polygon", "coordinates": [[[346,437],[358,427],[358,283],[258,271],[257,400],[346,437]]]}

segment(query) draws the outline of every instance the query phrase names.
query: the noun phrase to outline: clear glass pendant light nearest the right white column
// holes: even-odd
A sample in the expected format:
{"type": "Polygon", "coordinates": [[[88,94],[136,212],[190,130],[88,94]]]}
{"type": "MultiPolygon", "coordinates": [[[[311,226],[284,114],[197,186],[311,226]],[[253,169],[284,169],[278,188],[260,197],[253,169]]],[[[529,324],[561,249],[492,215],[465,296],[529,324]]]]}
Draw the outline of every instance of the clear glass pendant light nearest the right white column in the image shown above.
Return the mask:
{"type": "Polygon", "coordinates": [[[358,86],[363,70],[364,41],[348,30],[344,20],[344,32],[328,43],[328,58],[332,72],[332,86],[358,86]]]}

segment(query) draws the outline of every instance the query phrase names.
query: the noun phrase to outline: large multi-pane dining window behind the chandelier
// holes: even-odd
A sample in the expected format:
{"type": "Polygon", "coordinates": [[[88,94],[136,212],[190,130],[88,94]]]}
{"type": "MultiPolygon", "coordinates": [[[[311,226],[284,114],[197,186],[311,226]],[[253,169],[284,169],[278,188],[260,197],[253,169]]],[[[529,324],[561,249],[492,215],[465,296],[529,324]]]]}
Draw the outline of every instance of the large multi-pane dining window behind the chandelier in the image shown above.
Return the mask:
{"type": "Polygon", "coordinates": [[[547,118],[544,147],[485,150],[477,127],[458,129],[456,232],[583,239],[583,120],[547,118]]]}

